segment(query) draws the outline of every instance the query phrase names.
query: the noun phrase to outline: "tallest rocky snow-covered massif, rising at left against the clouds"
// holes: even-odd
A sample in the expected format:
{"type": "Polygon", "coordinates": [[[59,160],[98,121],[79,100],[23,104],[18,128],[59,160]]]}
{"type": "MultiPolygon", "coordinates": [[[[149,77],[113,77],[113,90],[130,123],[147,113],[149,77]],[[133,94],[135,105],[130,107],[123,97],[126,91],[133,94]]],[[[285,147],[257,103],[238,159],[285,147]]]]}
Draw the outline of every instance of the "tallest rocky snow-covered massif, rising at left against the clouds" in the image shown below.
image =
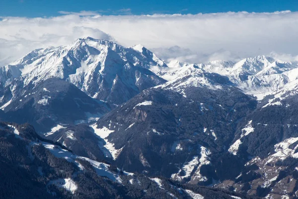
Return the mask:
{"type": "Polygon", "coordinates": [[[14,79],[26,86],[57,77],[92,98],[120,104],[144,89],[165,82],[148,70],[153,66],[166,67],[141,45],[125,48],[87,37],[68,46],[34,50],[0,68],[0,80],[2,87],[11,87],[14,79]]]}

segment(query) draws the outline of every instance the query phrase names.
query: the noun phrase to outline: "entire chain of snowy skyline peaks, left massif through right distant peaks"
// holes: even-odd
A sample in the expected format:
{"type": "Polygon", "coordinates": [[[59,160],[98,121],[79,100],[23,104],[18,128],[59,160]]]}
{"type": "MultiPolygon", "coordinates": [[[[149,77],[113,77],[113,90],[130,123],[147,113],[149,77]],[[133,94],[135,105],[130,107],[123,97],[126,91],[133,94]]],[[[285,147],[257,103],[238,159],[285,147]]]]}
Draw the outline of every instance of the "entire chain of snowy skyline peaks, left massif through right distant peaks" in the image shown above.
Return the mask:
{"type": "MultiPolygon", "coordinates": [[[[9,87],[13,98],[15,79],[26,86],[57,77],[92,98],[121,104],[144,89],[195,71],[189,68],[226,76],[243,92],[259,99],[298,79],[297,62],[279,62],[267,56],[246,58],[237,63],[188,64],[173,60],[168,66],[142,45],[125,48],[87,37],[68,46],[36,49],[1,67],[0,87],[2,90],[9,87]]],[[[2,98],[0,105],[13,100],[11,98],[2,98]]]]}

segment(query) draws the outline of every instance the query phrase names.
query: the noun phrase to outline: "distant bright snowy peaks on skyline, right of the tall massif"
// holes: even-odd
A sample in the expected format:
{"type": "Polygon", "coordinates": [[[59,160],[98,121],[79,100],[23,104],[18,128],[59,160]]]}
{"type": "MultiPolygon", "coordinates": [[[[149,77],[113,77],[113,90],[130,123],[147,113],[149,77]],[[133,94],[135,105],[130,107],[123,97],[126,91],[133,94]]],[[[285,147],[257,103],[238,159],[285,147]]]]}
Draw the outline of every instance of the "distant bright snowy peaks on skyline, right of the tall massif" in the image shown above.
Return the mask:
{"type": "Polygon", "coordinates": [[[246,58],[236,63],[212,61],[208,64],[188,64],[171,61],[168,65],[171,68],[152,71],[166,80],[192,73],[193,70],[189,68],[218,73],[228,77],[244,93],[254,95],[260,100],[298,79],[298,62],[279,62],[267,56],[246,58]]]}

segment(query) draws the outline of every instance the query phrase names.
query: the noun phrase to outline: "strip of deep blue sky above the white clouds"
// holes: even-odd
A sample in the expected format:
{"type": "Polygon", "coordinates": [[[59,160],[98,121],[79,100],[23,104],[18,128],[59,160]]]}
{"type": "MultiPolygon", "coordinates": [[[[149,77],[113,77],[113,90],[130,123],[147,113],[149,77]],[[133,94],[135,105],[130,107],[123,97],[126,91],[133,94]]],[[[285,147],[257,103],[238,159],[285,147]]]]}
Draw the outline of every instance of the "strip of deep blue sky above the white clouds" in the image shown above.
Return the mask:
{"type": "Polygon", "coordinates": [[[57,16],[59,11],[81,10],[105,15],[297,11],[298,0],[0,0],[0,16],[57,16]]]}

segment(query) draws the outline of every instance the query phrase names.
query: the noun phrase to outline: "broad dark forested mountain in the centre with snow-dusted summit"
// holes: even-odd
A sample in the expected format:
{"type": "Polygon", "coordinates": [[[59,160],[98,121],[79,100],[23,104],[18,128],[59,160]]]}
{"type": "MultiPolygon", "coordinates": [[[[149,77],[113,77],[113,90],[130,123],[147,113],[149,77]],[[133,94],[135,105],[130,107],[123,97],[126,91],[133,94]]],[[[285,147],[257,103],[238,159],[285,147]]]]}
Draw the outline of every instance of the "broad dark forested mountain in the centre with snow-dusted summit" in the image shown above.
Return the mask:
{"type": "Polygon", "coordinates": [[[117,150],[117,165],[181,182],[211,184],[222,178],[215,174],[213,155],[225,151],[256,101],[227,78],[196,70],[142,92],[98,120],[95,131],[117,150]]]}

